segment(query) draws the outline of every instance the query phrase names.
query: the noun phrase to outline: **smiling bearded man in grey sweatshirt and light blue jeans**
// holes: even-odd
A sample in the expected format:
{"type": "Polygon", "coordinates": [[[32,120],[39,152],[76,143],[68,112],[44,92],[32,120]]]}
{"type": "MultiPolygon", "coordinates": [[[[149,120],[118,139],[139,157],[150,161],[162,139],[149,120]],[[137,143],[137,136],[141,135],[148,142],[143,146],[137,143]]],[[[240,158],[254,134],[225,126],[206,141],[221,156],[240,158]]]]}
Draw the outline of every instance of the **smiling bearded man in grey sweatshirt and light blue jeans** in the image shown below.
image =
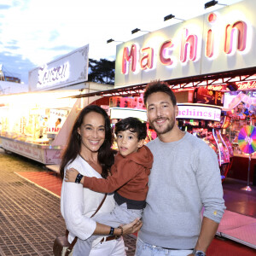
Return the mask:
{"type": "Polygon", "coordinates": [[[167,84],[148,84],[144,103],[158,137],[147,144],[154,164],[136,256],[204,256],[225,209],[217,155],[179,130],[176,98],[167,84]]]}

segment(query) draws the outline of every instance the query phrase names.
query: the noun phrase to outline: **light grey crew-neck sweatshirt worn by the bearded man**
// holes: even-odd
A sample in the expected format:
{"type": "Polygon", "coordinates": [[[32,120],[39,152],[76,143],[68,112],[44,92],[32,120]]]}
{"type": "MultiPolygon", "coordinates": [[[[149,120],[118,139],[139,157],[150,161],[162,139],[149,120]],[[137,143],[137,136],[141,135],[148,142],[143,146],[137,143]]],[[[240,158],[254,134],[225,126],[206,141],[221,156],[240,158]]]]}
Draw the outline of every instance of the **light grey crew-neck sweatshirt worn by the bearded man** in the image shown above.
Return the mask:
{"type": "Polygon", "coordinates": [[[219,223],[224,214],[217,154],[189,134],[173,143],[147,144],[154,155],[147,206],[138,237],[158,247],[194,248],[203,216],[219,223]]]}

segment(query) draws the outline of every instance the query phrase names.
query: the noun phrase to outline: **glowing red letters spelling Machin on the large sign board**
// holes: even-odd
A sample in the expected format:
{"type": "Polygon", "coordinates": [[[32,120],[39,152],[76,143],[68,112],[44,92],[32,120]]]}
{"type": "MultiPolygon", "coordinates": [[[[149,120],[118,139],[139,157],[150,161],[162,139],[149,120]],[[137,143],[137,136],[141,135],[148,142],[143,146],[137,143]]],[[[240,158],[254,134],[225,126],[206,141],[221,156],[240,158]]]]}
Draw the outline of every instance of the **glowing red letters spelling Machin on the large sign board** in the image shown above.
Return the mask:
{"type": "MultiPolygon", "coordinates": [[[[210,14],[208,16],[209,22],[213,22],[212,20],[216,20],[215,14],[210,14]],[[215,18],[212,19],[211,17],[215,18]]],[[[189,32],[188,28],[183,28],[181,42],[180,42],[180,54],[179,61],[187,62],[187,61],[196,61],[199,51],[198,47],[198,35],[189,32]]],[[[225,37],[224,37],[224,53],[230,54],[234,49],[234,45],[236,43],[236,49],[238,51],[243,51],[247,46],[247,23],[238,20],[234,24],[227,24],[225,26],[225,37]],[[235,36],[236,32],[236,36],[235,36]],[[237,42],[235,42],[237,41],[237,42]]],[[[172,39],[166,41],[164,44],[160,45],[159,50],[159,58],[160,62],[163,65],[172,65],[172,58],[166,58],[166,50],[174,47],[175,45],[172,43],[172,39]]],[[[131,72],[136,72],[137,70],[137,60],[140,60],[140,68],[142,70],[152,69],[153,68],[153,60],[154,60],[154,49],[151,47],[146,47],[141,49],[141,55],[139,51],[137,51],[137,45],[131,44],[131,49],[128,47],[124,48],[123,52],[123,61],[122,61],[122,73],[127,74],[129,72],[127,66],[128,63],[131,64],[131,72]],[[143,64],[144,63],[144,64],[143,64]]],[[[206,57],[212,57],[214,53],[214,44],[213,44],[213,32],[212,29],[209,29],[207,32],[207,44],[206,44],[206,57]]]]}

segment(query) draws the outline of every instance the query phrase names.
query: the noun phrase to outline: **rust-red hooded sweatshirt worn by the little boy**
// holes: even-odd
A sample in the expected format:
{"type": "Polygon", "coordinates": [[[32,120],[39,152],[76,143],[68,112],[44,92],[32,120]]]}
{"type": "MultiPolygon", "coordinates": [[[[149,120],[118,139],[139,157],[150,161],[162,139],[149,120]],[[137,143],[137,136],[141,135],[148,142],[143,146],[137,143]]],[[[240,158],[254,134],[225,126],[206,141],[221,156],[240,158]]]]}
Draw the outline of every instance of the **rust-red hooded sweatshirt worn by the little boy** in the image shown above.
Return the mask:
{"type": "Polygon", "coordinates": [[[148,193],[148,175],[153,165],[153,154],[146,146],[127,156],[117,154],[107,179],[84,177],[84,187],[102,193],[117,191],[134,201],[144,201],[148,193]]]}

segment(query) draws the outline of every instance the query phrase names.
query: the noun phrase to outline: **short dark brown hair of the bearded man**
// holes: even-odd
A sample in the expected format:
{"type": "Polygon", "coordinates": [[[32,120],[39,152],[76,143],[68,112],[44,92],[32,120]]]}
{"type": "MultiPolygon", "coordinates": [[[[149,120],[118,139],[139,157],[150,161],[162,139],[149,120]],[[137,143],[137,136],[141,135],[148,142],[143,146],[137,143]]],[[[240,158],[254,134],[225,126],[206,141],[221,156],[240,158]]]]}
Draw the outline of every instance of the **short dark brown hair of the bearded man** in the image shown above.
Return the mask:
{"type": "Polygon", "coordinates": [[[173,91],[169,87],[169,85],[165,82],[154,81],[147,85],[146,90],[144,91],[144,104],[147,104],[148,96],[150,96],[154,92],[164,92],[168,96],[170,96],[172,105],[177,105],[176,96],[173,91]]]}

